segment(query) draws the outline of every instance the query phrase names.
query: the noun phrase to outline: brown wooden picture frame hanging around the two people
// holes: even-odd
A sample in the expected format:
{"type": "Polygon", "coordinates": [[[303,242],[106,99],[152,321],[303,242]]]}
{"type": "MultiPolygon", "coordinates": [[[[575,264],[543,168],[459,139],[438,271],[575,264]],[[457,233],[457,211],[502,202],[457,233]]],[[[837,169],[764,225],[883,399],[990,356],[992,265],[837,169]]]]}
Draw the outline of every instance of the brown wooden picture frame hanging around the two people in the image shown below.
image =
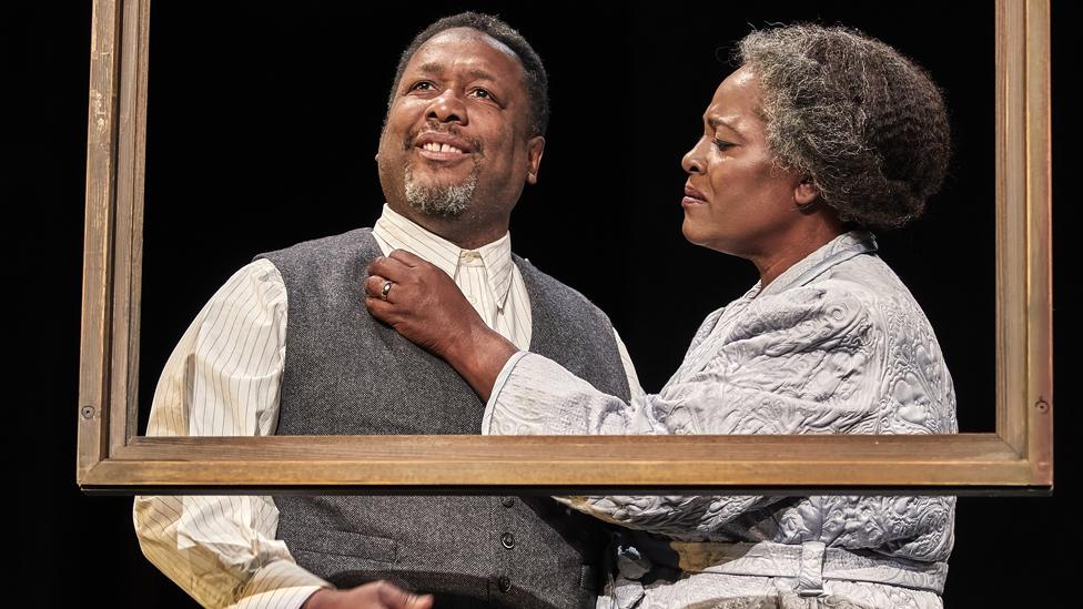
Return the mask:
{"type": "Polygon", "coordinates": [[[135,435],[149,0],[95,0],[77,481],[243,494],[1052,489],[1047,0],[995,0],[996,428],[944,436],[135,435]]]}

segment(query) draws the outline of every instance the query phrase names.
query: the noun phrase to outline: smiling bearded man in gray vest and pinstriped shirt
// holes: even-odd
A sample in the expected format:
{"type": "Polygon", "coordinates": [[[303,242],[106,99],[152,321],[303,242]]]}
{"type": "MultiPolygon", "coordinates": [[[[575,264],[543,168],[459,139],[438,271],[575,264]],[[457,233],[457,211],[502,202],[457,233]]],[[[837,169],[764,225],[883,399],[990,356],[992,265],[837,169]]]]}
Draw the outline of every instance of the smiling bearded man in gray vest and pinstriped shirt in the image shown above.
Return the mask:
{"type": "MultiPolygon", "coordinates": [[[[638,383],[605,315],[510,253],[547,120],[545,69],[506,23],[462,13],[419,33],[388,100],[375,226],[235,274],[166,364],[149,435],[478,433],[462,377],[363,305],[366,267],[396,248],[444,270],[519,348],[628,399],[638,383]]],[[[605,545],[547,498],[141,497],[135,521],[146,557],[210,606],[409,600],[364,586],[379,579],[439,607],[593,605],[605,545]]]]}

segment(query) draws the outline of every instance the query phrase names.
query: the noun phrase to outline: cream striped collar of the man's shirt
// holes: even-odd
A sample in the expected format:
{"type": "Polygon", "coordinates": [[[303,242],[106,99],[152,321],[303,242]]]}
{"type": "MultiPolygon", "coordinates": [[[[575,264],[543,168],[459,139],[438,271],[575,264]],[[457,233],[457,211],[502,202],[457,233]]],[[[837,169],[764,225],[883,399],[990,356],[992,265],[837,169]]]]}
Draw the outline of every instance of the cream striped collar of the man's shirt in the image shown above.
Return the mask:
{"type": "Polygon", "coordinates": [[[406,216],[395,212],[387,204],[373,225],[373,234],[383,240],[392,250],[405,250],[436,265],[441,271],[455,277],[464,257],[480,257],[485,266],[488,287],[496,300],[496,306],[504,308],[512,292],[512,234],[504,233],[500,238],[477,250],[463,250],[446,238],[421,227],[406,216]]]}

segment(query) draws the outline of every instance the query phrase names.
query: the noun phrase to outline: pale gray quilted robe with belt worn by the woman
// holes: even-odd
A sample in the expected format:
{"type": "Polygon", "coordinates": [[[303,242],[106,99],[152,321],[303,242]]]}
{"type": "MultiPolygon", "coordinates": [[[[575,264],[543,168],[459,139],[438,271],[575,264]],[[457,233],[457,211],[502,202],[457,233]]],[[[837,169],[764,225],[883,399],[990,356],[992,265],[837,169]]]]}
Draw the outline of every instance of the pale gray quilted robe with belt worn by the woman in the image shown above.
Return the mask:
{"type": "MultiPolygon", "coordinates": [[[[951,376],[932,327],[866,232],[837,237],[767,288],[757,284],[710,314],[657,395],[640,390],[625,403],[519,353],[497,379],[483,423],[486,434],[957,430],[951,376]]],[[[953,497],[561,500],[670,540],[681,567],[658,571],[646,554],[624,548],[620,577],[599,603],[941,605],[953,497]]]]}

